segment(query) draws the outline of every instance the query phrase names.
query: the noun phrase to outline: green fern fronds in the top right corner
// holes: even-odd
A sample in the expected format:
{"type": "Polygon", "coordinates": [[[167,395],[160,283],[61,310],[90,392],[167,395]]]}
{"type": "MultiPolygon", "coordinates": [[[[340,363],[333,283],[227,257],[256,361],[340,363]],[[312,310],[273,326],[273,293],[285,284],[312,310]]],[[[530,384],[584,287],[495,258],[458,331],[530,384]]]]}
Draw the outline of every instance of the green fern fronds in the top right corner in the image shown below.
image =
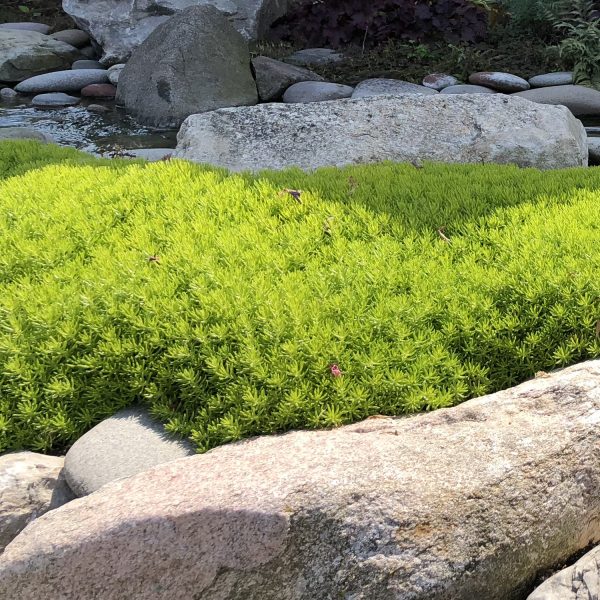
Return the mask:
{"type": "Polygon", "coordinates": [[[575,82],[600,84],[600,3],[558,0],[539,6],[561,35],[559,55],[573,68],[575,82]]]}

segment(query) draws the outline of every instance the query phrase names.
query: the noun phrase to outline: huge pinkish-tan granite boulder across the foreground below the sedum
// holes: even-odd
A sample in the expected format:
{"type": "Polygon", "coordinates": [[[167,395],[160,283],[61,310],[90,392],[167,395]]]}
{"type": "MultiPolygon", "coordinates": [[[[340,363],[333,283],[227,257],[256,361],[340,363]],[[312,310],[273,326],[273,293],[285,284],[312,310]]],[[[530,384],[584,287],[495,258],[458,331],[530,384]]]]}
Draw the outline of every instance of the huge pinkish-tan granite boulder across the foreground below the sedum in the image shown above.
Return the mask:
{"type": "Polygon", "coordinates": [[[0,597],[522,599],[600,536],[599,422],[596,361],[223,446],[36,520],[0,557],[0,597]]]}

